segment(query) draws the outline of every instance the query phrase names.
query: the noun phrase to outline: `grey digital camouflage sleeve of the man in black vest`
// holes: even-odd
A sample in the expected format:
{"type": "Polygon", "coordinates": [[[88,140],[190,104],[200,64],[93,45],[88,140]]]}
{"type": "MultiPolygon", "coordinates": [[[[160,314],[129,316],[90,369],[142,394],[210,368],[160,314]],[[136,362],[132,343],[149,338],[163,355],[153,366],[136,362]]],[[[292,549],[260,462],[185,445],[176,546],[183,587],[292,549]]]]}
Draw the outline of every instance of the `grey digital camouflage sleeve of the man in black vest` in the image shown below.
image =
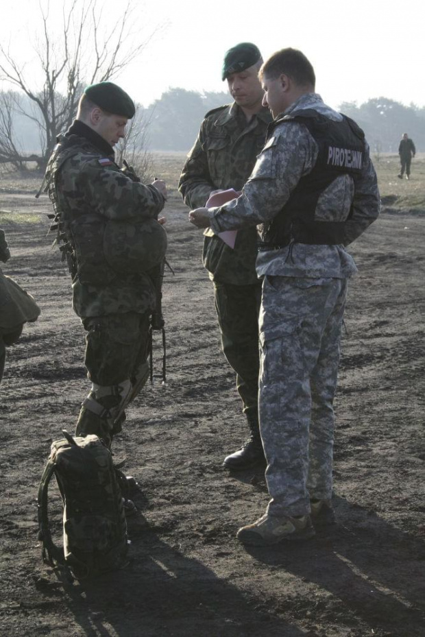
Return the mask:
{"type": "Polygon", "coordinates": [[[315,165],[317,144],[306,127],[285,123],[276,128],[257,158],[239,199],[210,208],[214,232],[256,226],[273,219],[302,176],[315,165]]]}

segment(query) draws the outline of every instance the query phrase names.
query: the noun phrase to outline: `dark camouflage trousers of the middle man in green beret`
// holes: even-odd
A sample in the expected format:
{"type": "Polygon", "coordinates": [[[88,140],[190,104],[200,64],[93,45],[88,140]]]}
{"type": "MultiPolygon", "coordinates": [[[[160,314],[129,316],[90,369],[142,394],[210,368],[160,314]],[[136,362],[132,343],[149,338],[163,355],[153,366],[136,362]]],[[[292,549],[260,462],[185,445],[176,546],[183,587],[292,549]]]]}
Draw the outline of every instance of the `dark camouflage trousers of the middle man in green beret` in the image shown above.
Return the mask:
{"type": "Polygon", "coordinates": [[[236,388],[248,420],[258,420],[258,312],[261,283],[231,285],[214,282],[215,309],[223,353],[236,372],[236,388]]]}

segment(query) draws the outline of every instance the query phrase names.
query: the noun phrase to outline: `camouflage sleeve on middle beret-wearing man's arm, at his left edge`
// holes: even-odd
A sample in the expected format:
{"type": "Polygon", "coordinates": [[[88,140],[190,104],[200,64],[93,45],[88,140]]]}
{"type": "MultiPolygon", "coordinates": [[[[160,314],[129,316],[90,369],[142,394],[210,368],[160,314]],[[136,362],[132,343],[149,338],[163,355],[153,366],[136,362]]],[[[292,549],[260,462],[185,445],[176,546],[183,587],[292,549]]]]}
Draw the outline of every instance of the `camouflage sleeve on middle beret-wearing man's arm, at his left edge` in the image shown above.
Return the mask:
{"type": "Polygon", "coordinates": [[[206,140],[206,121],[202,122],[197,140],[187,156],[178,189],[182,193],[183,201],[190,208],[200,208],[205,205],[210,192],[215,190],[208,168],[208,157],[204,150],[206,140]]]}

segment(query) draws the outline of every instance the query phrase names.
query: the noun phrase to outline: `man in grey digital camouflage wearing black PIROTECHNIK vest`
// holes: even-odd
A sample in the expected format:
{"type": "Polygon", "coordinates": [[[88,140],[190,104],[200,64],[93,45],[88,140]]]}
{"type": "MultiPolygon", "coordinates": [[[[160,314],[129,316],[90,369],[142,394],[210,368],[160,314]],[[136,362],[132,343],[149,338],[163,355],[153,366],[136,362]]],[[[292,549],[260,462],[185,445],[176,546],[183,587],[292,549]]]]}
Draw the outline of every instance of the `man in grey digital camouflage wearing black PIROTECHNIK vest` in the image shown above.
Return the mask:
{"type": "Polygon", "coordinates": [[[243,194],[189,215],[214,232],[263,224],[259,402],[271,501],[237,535],[257,546],[310,538],[313,523],[335,520],[332,402],[347,279],[356,272],[345,245],[379,213],[363,132],[314,92],[305,56],[278,51],[260,77],[275,119],[243,194]]]}

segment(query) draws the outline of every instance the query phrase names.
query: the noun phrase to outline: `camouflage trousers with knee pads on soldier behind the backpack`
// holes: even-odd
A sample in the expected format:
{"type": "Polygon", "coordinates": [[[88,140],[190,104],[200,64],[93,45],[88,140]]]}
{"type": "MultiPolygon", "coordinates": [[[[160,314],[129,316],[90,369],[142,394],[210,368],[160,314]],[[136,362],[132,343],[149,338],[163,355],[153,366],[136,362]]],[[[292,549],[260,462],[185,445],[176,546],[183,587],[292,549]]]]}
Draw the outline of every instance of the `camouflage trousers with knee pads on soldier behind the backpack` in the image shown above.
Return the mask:
{"type": "Polygon", "coordinates": [[[125,387],[127,401],[133,400],[149,376],[149,313],[110,314],[82,318],[87,331],[85,365],[93,382],[88,399],[104,407],[95,413],[90,409],[93,400],[86,399],[77,422],[77,435],[98,435],[110,444],[112,435],[121,431],[123,415],[118,422],[111,413],[118,409],[125,387]],[[86,403],[86,406],[85,406],[86,403]],[[110,413],[107,413],[108,410],[110,413]]]}

